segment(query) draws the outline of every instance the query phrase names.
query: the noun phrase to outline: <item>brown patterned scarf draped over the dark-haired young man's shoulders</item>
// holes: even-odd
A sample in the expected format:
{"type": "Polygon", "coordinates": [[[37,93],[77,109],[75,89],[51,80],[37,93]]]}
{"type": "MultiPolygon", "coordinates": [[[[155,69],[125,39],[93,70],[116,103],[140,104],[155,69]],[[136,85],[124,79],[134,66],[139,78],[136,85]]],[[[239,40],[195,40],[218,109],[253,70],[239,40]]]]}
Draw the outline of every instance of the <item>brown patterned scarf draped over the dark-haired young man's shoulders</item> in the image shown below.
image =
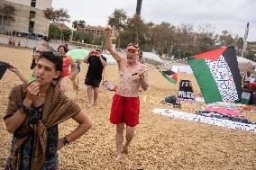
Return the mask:
{"type": "MultiPolygon", "coordinates": [[[[18,103],[23,103],[27,86],[28,84],[23,84],[13,88],[9,95],[9,103],[4,119],[12,116],[18,110],[18,103]]],[[[76,103],[73,103],[65,94],[62,94],[57,85],[50,85],[41,120],[31,123],[32,115],[27,114],[21,127],[14,132],[14,136],[18,139],[14,144],[14,157],[12,157],[13,168],[16,170],[21,166],[22,145],[29,133],[32,132],[34,134],[34,140],[31,169],[40,169],[45,160],[47,129],[62,121],[68,120],[78,112],[80,112],[80,108],[76,103]]]]}

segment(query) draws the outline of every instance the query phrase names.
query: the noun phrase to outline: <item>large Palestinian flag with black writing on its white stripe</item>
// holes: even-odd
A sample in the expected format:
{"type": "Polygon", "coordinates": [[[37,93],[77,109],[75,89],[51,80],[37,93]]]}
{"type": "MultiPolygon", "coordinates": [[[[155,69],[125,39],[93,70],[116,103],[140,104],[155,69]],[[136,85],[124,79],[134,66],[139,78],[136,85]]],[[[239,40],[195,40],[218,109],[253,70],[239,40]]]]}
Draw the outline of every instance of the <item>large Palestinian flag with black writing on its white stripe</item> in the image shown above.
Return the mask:
{"type": "Polygon", "coordinates": [[[206,103],[240,101],[242,77],[233,46],[187,59],[206,103]]]}

